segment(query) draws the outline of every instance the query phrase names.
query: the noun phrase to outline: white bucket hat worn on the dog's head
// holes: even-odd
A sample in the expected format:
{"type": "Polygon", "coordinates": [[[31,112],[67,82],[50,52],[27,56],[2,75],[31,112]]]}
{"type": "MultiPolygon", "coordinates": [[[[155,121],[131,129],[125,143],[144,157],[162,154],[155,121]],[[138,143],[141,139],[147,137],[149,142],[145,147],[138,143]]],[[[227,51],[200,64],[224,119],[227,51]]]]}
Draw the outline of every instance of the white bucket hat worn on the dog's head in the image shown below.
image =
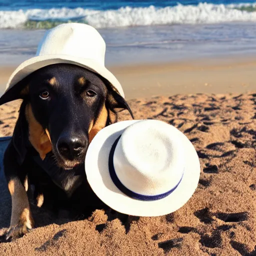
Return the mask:
{"type": "Polygon", "coordinates": [[[21,63],[11,74],[5,92],[33,71],[56,63],[85,67],[107,79],[124,97],[115,76],[104,66],[105,42],[92,26],[65,23],[45,32],[38,44],[36,56],[21,63]]]}

